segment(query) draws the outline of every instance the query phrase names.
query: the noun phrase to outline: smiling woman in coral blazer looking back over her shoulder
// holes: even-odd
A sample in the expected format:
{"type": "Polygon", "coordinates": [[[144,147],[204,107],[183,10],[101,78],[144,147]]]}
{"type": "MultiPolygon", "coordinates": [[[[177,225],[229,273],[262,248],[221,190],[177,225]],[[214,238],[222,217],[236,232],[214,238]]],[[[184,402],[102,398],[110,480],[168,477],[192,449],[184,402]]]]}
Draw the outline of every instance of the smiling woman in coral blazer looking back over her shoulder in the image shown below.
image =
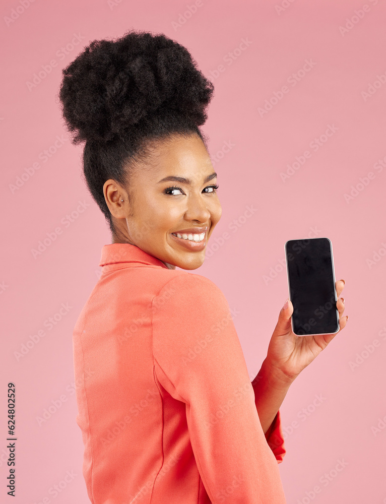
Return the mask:
{"type": "Polygon", "coordinates": [[[162,34],[93,41],[63,70],[63,117],[112,234],[73,335],[94,504],[285,502],[279,407],[335,336],[296,337],[287,300],[251,383],[223,293],[184,271],[203,264],[221,217],[199,128],[212,94],[162,34]]]}

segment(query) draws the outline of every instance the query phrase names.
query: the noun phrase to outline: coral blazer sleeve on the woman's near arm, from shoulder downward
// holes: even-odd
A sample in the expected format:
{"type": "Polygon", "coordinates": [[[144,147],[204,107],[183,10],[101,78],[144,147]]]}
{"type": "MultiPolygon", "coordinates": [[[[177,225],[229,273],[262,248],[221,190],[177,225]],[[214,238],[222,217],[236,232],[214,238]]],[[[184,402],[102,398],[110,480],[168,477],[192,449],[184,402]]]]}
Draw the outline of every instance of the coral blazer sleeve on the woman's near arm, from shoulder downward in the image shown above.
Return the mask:
{"type": "Polygon", "coordinates": [[[153,298],[152,310],[155,371],[164,389],[185,403],[212,504],[284,504],[278,461],[267,443],[280,416],[265,436],[222,291],[204,276],[181,273],[153,298]]]}

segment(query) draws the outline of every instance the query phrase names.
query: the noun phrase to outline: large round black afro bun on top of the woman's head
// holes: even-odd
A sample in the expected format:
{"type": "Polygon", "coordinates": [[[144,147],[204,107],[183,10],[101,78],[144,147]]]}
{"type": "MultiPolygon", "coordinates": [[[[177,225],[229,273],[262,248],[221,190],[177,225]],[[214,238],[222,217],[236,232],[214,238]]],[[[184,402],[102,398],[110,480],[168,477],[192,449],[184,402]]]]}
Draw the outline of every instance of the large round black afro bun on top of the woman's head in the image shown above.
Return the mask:
{"type": "Polygon", "coordinates": [[[135,30],[92,41],[62,73],[59,98],[74,144],[124,136],[153,114],[204,124],[214,91],[185,47],[135,30]]]}

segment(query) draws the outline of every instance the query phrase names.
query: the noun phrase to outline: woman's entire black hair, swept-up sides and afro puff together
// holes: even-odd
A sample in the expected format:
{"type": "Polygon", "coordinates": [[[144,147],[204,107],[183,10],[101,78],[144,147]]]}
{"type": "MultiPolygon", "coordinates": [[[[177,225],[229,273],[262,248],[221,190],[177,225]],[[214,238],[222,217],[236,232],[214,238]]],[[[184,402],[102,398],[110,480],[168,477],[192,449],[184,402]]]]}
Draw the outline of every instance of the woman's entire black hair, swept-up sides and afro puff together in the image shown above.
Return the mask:
{"type": "Polygon", "coordinates": [[[127,184],[130,160],[146,157],[153,140],[197,134],[207,146],[199,126],[214,86],[185,47],[136,30],[92,41],[62,73],[63,119],[72,142],[85,142],[86,183],[114,234],[104,182],[127,184]]]}

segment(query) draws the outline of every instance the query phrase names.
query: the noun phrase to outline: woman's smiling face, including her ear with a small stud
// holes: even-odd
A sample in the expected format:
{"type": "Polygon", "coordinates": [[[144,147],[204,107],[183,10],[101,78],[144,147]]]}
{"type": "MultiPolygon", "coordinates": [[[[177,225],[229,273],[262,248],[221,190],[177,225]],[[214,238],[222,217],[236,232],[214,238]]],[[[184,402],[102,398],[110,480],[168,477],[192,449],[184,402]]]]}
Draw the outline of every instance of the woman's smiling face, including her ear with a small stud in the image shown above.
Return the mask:
{"type": "Polygon", "coordinates": [[[171,269],[199,268],[221,217],[213,187],[216,182],[208,151],[198,135],[173,136],[158,143],[150,159],[131,171],[132,201],[114,180],[104,183],[117,229],[114,242],[136,245],[171,269]]]}

